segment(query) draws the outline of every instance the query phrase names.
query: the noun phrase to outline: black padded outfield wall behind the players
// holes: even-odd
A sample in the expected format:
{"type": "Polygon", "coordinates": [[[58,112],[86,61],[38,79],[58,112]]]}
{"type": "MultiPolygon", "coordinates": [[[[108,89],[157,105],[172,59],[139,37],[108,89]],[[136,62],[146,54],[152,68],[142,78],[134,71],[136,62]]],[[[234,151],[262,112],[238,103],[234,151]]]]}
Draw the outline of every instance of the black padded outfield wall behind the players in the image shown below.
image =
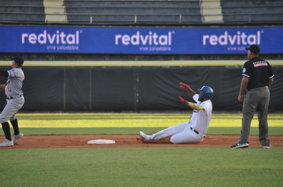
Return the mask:
{"type": "MultiPolygon", "coordinates": [[[[10,70],[9,67],[1,69],[10,70]]],[[[241,67],[23,67],[25,104],[21,110],[191,110],[193,102],[179,83],[196,93],[214,90],[214,110],[242,110],[238,101],[241,67]]],[[[273,67],[269,111],[283,110],[283,67],[273,67]]],[[[0,84],[7,78],[0,77],[0,84]]],[[[6,105],[0,92],[0,110],[6,105]]]]}

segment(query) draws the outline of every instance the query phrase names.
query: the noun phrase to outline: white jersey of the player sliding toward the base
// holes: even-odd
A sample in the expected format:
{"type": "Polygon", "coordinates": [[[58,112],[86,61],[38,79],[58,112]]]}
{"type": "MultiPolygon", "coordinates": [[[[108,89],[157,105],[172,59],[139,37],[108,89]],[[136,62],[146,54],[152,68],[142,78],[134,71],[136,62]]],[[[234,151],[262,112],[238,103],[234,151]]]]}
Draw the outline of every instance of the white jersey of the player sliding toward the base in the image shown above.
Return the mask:
{"type": "Polygon", "coordinates": [[[202,135],[206,135],[208,130],[208,125],[212,115],[212,103],[209,100],[200,102],[198,101],[198,94],[193,96],[193,99],[197,104],[201,104],[204,110],[194,109],[191,119],[189,121],[191,128],[198,131],[202,135]]]}

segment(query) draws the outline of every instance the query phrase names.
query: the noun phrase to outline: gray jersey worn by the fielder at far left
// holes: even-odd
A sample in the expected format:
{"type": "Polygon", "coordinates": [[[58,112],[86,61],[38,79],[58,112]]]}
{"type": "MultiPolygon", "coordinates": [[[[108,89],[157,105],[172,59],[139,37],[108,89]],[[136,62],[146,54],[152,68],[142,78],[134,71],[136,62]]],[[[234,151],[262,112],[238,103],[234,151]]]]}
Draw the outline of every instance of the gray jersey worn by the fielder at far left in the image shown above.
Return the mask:
{"type": "Polygon", "coordinates": [[[8,70],[8,80],[5,86],[7,97],[23,94],[23,82],[25,75],[21,68],[13,68],[8,70]]]}

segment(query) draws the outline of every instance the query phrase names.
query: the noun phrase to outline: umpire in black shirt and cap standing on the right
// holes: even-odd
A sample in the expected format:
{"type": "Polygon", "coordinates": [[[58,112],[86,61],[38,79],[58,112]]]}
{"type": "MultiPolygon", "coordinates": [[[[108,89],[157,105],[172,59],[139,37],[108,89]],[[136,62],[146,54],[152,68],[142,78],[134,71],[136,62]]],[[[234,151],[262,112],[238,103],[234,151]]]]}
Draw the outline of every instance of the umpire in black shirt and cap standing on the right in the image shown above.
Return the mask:
{"type": "Polygon", "coordinates": [[[252,44],[247,47],[248,59],[243,66],[241,88],[238,96],[243,102],[243,118],[240,139],[231,148],[247,148],[250,123],[254,113],[258,112],[259,139],[263,148],[272,148],[268,136],[267,110],[269,105],[269,88],[273,83],[270,64],[258,57],[260,47],[252,44]],[[245,92],[246,88],[248,92],[245,92]]]}

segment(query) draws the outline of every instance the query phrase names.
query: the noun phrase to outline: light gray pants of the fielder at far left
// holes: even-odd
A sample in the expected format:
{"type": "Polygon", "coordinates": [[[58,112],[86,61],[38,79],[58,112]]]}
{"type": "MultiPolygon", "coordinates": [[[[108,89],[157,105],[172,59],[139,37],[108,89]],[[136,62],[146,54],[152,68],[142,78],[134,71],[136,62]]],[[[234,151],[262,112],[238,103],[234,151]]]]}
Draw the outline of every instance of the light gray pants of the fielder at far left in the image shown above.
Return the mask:
{"type": "Polygon", "coordinates": [[[7,104],[0,115],[0,123],[7,122],[8,120],[14,121],[16,119],[16,113],[22,108],[25,103],[24,97],[18,97],[14,99],[7,99],[7,104]]]}

